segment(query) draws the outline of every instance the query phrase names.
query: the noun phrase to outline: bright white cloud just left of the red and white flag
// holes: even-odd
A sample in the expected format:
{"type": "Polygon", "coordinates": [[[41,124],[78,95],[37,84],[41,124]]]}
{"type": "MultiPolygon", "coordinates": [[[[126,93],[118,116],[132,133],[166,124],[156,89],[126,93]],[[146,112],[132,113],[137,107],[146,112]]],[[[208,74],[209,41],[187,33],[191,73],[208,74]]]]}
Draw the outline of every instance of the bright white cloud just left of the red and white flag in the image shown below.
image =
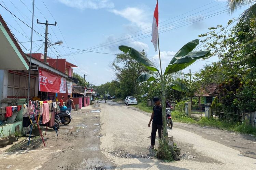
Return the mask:
{"type": "Polygon", "coordinates": [[[149,20],[149,14],[142,8],[127,7],[123,10],[111,10],[111,12],[122,16],[141,29],[151,27],[152,23],[149,20]]]}

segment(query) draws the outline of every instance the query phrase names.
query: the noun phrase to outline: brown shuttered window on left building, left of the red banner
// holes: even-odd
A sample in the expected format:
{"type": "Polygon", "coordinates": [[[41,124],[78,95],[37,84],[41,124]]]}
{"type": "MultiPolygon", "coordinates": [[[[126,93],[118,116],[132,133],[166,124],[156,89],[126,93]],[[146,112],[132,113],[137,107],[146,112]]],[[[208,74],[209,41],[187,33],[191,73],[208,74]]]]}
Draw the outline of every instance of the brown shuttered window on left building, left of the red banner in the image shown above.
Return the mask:
{"type": "MultiPolygon", "coordinates": [[[[35,93],[35,77],[30,77],[30,96],[35,93]]],[[[28,95],[28,75],[9,72],[7,96],[27,96],[28,95]]]]}

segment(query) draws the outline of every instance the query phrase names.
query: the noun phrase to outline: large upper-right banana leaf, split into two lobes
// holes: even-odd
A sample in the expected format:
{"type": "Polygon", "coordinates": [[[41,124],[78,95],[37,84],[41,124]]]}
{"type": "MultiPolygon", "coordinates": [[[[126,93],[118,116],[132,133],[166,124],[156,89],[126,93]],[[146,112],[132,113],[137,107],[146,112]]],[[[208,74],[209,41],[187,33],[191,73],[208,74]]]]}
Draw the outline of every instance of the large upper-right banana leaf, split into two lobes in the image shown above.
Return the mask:
{"type": "Polygon", "coordinates": [[[165,70],[165,75],[183,70],[193,64],[197,59],[207,57],[210,51],[192,51],[199,44],[199,40],[195,39],[183,46],[172,58],[171,62],[165,70]]]}

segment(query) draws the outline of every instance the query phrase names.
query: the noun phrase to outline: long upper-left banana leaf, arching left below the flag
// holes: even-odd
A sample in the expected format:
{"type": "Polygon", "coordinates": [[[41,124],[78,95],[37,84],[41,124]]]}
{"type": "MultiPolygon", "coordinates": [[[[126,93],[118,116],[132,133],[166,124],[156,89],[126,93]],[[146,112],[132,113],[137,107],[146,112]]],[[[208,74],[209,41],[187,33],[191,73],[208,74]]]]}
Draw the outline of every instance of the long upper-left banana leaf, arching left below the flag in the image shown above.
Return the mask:
{"type": "Polygon", "coordinates": [[[146,66],[147,69],[152,71],[159,71],[157,68],[154,67],[153,63],[150,60],[148,60],[148,58],[145,55],[135,50],[134,48],[128,46],[119,46],[118,48],[124,53],[128,53],[132,58],[146,66]]]}

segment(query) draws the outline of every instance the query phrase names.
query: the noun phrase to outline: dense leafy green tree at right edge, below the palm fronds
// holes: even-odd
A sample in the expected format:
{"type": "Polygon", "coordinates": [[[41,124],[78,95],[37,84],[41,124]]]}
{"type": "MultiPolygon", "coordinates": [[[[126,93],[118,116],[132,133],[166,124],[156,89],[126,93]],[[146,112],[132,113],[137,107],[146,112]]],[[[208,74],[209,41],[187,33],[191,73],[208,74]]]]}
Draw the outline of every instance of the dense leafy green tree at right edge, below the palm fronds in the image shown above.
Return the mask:
{"type": "MultiPolygon", "coordinates": [[[[232,20],[228,21],[228,25],[232,20]]],[[[256,110],[256,21],[239,21],[225,33],[222,25],[209,28],[199,35],[207,42],[205,48],[213,51],[211,55],[219,58],[208,67],[195,74],[201,84],[218,82],[221,84],[220,102],[226,112],[242,113],[256,110]],[[216,32],[224,31],[218,35],[216,32]]]]}

